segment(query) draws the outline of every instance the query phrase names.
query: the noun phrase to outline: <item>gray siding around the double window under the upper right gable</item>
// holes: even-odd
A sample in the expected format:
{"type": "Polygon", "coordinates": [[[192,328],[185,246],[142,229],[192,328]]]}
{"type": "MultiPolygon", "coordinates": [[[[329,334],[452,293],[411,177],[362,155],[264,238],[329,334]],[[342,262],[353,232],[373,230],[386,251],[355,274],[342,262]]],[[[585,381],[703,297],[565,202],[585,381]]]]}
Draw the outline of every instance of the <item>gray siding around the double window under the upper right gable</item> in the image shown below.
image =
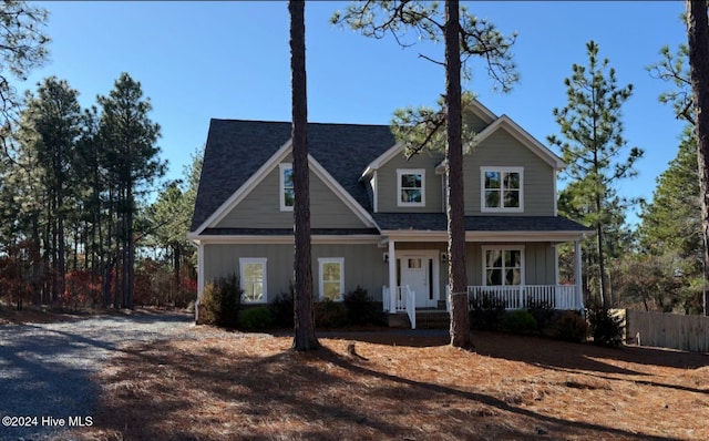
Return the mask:
{"type": "Polygon", "coordinates": [[[479,216],[493,213],[481,211],[480,167],[524,167],[523,213],[494,213],[494,215],[553,216],[554,168],[542,161],[507,131],[501,129],[472,152],[463,156],[465,180],[465,215],[479,216]]]}

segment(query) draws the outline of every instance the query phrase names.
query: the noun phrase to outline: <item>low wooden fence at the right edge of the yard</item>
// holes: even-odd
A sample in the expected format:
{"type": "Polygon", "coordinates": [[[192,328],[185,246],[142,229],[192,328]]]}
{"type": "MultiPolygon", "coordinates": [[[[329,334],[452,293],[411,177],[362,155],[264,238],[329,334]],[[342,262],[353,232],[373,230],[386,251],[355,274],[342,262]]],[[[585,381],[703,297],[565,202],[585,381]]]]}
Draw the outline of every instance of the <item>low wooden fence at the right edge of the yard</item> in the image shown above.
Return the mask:
{"type": "Polygon", "coordinates": [[[641,346],[709,352],[709,317],[634,309],[624,311],[626,341],[641,346]]]}

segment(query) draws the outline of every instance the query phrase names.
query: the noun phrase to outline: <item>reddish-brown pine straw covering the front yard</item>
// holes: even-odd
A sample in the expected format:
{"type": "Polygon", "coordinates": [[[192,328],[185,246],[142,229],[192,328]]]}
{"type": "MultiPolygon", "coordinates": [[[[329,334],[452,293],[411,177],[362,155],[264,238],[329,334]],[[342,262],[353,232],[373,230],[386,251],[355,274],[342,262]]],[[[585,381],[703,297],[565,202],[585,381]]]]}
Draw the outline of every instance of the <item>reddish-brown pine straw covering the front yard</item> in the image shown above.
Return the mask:
{"type": "Polygon", "coordinates": [[[138,345],[100,376],[106,440],[706,440],[706,355],[480,332],[291,338],[207,327],[138,345]],[[347,346],[354,341],[356,355],[347,346]]]}

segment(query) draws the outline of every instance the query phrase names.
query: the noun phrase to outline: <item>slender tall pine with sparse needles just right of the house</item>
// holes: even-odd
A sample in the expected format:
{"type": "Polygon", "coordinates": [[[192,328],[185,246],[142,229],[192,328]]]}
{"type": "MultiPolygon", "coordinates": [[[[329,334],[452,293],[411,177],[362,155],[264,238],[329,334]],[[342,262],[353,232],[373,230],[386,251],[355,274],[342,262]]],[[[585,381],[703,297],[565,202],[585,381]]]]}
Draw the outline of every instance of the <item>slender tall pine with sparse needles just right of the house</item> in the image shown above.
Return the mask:
{"type": "MultiPolygon", "coordinates": [[[[635,162],[643,151],[631,147],[625,153],[627,142],[623,137],[621,106],[633,93],[633,84],[617,85],[615,69],[608,60],[598,59],[598,44],[586,43],[588,65],[573,64],[573,75],[564,83],[567,88],[568,104],[554,109],[554,117],[559,124],[561,139],[552,135],[548,141],[557,145],[564,161],[571,184],[561,202],[566,202],[572,218],[592,226],[596,232],[595,249],[585,247],[586,259],[597,263],[598,291],[603,307],[610,306],[606,260],[612,232],[619,233],[618,225],[629,203],[617,196],[615,183],[637,174],[635,162]]],[[[562,211],[564,204],[559,204],[562,211]]]]}

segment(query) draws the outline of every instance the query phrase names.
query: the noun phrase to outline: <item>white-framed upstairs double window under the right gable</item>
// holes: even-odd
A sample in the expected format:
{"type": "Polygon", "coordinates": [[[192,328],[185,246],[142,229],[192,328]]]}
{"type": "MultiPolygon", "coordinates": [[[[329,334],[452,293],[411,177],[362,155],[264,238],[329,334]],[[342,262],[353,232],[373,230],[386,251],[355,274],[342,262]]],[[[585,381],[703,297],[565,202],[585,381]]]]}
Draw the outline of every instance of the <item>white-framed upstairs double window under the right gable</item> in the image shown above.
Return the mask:
{"type": "Polygon", "coordinates": [[[523,168],[481,167],[481,211],[523,212],[523,168]]]}

